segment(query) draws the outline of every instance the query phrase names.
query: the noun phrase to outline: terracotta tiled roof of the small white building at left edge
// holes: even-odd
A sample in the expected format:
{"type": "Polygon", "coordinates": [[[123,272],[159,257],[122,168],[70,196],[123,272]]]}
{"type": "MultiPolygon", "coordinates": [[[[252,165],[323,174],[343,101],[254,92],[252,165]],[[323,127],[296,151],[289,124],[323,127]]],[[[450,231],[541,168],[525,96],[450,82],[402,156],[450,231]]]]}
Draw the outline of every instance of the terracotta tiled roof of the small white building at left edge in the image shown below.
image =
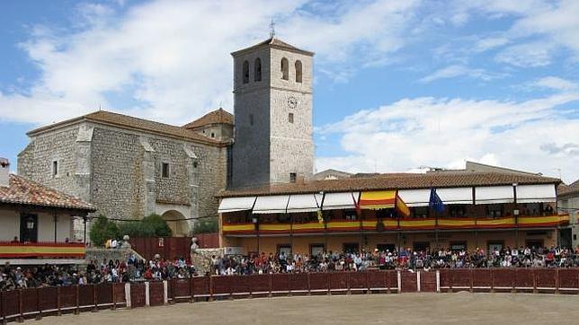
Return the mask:
{"type": "Polygon", "coordinates": [[[56,189],[50,189],[18,175],[10,175],[9,187],[0,187],[0,203],[60,207],[85,212],[96,211],[93,205],[80,198],[69,196],[56,189]]]}

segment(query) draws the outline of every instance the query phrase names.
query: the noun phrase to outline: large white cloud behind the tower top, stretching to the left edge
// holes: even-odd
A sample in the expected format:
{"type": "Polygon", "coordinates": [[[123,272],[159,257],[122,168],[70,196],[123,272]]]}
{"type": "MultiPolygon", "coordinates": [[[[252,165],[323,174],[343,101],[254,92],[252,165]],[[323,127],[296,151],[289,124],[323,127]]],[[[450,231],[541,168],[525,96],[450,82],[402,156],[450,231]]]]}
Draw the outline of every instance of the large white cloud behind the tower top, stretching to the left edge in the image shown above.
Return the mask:
{"type": "Polygon", "coordinates": [[[72,18],[76,29],[63,34],[36,26],[22,43],[40,79],[31,89],[0,90],[0,119],[44,124],[102,106],[184,124],[219,102],[231,110],[229,52],[266,39],[272,17],[281,39],[316,51],[316,65],[343,82],[355,66],[387,62],[404,47],[417,2],[311,4],[326,15],[308,13],[303,4],[156,1],[122,14],[81,4],[72,18]]]}

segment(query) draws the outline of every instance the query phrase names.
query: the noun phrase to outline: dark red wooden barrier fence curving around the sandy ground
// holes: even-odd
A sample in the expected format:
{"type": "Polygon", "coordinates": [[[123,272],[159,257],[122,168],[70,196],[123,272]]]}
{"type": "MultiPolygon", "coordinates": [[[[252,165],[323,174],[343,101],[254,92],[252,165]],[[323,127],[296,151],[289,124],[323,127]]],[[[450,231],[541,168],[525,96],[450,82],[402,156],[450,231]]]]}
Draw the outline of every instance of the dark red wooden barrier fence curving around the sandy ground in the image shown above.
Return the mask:
{"type": "Polygon", "coordinates": [[[64,312],[292,294],[415,292],[579,294],[579,268],[474,268],[193,277],[130,284],[42,287],[0,292],[0,321],[64,312]]]}

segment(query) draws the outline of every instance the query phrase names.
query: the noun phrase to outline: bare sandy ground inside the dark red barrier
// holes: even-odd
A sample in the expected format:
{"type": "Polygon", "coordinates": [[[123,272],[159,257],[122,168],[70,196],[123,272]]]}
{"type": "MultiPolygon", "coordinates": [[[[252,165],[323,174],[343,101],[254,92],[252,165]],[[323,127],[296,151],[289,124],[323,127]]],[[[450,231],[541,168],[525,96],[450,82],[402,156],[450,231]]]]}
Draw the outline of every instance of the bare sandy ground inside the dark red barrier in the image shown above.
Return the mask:
{"type": "Polygon", "coordinates": [[[355,294],[179,303],[80,315],[31,324],[545,324],[576,323],[579,296],[564,294],[355,294]]]}

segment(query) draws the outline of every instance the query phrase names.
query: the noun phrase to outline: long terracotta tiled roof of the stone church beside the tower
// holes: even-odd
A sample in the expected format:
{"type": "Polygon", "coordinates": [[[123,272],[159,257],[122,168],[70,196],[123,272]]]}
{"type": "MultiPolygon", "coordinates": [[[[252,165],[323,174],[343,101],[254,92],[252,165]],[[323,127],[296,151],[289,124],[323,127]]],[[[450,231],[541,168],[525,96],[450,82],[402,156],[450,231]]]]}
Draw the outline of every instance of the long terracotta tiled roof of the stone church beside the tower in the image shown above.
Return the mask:
{"type": "Polygon", "coordinates": [[[40,127],[34,129],[28,133],[28,135],[33,135],[35,133],[42,132],[44,130],[49,130],[53,127],[58,127],[60,125],[66,125],[68,123],[75,122],[77,120],[88,120],[94,121],[97,123],[104,123],[116,127],[128,127],[128,128],[137,128],[140,130],[161,134],[165,136],[173,136],[178,138],[183,138],[187,140],[193,140],[200,143],[208,144],[208,145],[220,145],[222,144],[218,140],[211,139],[207,136],[201,136],[193,132],[190,129],[184,127],[176,127],[165,123],[159,123],[148,119],[138,119],[128,115],[123,115],[119,113],[113,113],[106,110],[98,110],[90,114],[83,115],[76,119],[68,119],[66,121],[52,124],[46,127],[40,127]]]}

